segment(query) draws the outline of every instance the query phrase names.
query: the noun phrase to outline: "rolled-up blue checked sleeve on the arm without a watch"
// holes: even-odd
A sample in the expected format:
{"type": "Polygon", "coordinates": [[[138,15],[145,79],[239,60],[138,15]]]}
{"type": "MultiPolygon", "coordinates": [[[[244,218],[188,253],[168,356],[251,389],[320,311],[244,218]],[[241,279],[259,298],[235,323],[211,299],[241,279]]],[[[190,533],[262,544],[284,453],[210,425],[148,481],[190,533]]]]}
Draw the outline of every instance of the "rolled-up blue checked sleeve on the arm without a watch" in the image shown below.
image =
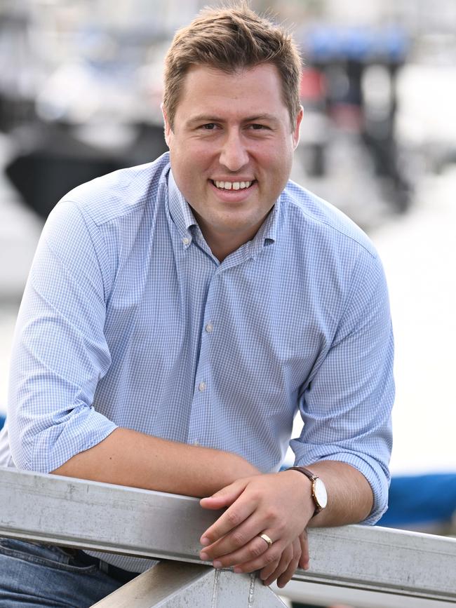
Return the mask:
{"type": "Polygon", "coordinates": [[[43,229],[13,339],[8,424],[18,468],[53,471],[116,428],[92,405],[111,363],[103,333],[109,280],[98,227],[60,202],[43,229]]]}

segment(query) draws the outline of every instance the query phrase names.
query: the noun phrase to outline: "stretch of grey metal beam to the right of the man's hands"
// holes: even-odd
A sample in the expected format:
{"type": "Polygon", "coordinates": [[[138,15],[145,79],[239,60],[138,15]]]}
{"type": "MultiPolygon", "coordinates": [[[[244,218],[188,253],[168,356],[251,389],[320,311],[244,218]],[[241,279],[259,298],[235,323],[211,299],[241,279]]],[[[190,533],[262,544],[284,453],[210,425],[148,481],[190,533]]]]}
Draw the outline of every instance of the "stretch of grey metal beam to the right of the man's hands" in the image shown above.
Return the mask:
{"type": "Polygon", "coordinates": [[[311,530],[309,550],[311,569],[298,571],[294,581],[330,580],[333,586],[456,603],[454,538],[383,527],[344,526],[311,530]]]}

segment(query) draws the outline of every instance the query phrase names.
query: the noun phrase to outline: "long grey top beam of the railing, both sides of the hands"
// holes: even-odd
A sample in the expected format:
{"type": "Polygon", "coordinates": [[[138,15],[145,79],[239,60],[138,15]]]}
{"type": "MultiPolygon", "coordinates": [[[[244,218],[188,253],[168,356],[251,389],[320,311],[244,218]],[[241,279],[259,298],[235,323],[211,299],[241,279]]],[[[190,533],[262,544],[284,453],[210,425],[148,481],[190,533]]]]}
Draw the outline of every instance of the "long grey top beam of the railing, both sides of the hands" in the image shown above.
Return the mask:
{"type": "MultiPolygon", "coordinates": [[[[175,494],[0,468],[0,535],[201,564],[219,513],[175,494]]],[[[366,526],[311,529],[295,581],[456,604],[456,539],[366,526]]]]}

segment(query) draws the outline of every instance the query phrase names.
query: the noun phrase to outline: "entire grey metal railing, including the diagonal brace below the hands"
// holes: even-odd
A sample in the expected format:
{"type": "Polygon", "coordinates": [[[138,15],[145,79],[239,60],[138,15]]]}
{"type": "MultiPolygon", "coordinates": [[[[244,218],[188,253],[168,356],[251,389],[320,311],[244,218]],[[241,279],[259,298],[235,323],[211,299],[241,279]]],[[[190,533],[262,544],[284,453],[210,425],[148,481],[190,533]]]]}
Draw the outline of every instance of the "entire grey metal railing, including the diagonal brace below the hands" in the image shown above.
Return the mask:
{"type": "MultiPolygon", "coordinates": [[[[98,607],[283,606],[255,575],[201,562],[199,537],[218,515],[188,496],[0,468],[0,536],[166,560],[98,607]]],[[[311,568],[281,595],[365,608],[456,604],[456,539],[356,525],[311,529],[309,549],[311,568]]]]}

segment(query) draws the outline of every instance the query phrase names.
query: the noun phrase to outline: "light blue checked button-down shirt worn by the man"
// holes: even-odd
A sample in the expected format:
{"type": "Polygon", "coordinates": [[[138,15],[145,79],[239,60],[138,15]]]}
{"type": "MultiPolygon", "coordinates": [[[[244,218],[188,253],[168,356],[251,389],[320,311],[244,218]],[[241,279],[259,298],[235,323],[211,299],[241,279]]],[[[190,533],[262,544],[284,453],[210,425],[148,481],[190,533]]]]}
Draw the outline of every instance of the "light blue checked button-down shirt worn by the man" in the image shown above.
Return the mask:
{"type": "Polygon", "coordinates": [[[165,154],[51,213],[15,332],[0,464],[52,471],[117,426],[261,471],[291,445],[297,465],[361,471],[373,523],[387,506],[392,365],[384,274],[360,229],[288,182],[220,263],[165,154]]]}

